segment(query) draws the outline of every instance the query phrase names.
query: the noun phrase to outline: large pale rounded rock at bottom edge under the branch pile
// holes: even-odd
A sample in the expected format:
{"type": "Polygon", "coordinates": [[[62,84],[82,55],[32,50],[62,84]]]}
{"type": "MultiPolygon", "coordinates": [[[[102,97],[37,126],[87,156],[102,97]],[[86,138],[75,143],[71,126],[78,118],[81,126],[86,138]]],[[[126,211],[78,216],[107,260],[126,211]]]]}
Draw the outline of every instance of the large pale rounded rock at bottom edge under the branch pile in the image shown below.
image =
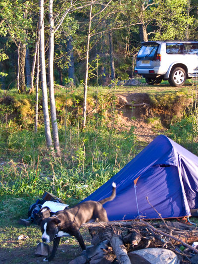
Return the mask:
{"type": "Polygon", "coordinates": [[[160,248],[141,249],[141,250],[135,250],[133,252],[130,252],[128,255],[131,256],[132,254],[138,254],[139,256],[142,256],[148,262],[150,262],[150,264],[179,264],[180,263],[177,255],[168,249],[160,249],[160,248]]]}

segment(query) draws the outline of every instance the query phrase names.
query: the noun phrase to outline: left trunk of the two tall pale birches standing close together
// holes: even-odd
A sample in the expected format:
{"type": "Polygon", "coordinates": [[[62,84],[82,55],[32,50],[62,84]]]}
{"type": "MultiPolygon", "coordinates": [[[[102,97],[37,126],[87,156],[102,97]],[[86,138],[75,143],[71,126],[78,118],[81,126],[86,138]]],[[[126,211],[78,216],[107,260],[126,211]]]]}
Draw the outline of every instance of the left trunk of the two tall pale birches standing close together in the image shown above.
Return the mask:
{"type": "Polygon", "coordinates": [[[48,109],[48,91],[47,91],[47,80],[46,80],[46,61],[45,61],[45,36],[44,36],[44,0],[39,0],[39,30],[40,30],[40,61],[41,61],[41,84],[42,84],[42,95],[43,95],[43,112],[44,112],[44,124],[45,124],[45,135],[48,149],[52,150],[52,139],[50,132],[49,122],[49,109],[48,109]]]}

